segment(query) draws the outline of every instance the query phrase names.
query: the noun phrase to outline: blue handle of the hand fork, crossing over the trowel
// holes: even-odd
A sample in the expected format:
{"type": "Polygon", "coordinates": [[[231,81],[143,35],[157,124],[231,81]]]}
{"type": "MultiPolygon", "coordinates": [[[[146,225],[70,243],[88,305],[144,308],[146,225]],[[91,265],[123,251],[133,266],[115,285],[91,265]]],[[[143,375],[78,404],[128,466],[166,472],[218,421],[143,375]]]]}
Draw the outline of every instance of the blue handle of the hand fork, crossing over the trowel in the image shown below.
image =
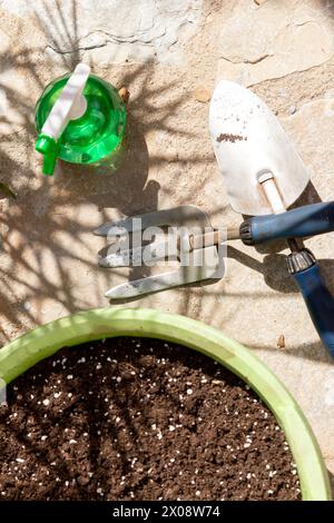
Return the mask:
{"type": "Polygon", "coordinates": [[[269,239],[303,238],[334,230],[334,201],[312,204],[279,215],[255,216],[240,226],[246,245],[269,239]]]}

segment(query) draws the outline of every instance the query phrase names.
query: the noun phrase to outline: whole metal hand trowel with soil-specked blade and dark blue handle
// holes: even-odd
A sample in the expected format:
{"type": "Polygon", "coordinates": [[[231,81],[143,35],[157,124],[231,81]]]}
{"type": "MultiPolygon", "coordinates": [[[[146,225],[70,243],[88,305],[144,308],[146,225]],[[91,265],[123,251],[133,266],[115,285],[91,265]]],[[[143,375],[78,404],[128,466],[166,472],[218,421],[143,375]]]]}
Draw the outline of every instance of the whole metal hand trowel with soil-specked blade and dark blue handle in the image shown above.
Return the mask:
{"type": "MultiPolygon", "coordinates": [[[[316,217],[313,206],[308,206],[313,209],[307,217],[305,208],[285,213],[305,189],[310,174],[276,117],[255,93],[232,81],[220,81],[210,102],[209,131],[234,210],[265,220],[263,215],[278,215],[271,224],[267,221],[266,239],[271,231],[274,236],[275,224],[283,224],[289,213],[297,213],[299,224],[310,228],[316,217]]],[[[333,219],[325,214],[322,221],[333,219]]],[[[250,236],[252,227],[250,221],[250,236]]],[[[314,255],[293,238],[293,228],[287,227],[285,235],[292,249],[287,256],[289,273],[324,345],[334,356],[334,298],[314,255]]]]}

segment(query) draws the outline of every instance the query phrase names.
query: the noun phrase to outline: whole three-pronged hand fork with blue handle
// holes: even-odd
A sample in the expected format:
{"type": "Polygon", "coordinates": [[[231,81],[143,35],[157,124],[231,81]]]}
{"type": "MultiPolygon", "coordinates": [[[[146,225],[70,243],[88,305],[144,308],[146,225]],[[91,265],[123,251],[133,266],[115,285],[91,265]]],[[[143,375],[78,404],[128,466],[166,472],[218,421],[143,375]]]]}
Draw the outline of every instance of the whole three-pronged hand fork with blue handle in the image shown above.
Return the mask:
{"type": "MultiPolygon", "coordinates": [[[[99,266],[115,268],[143,265],[144,253],[148,264],[163,260],[166,253],[169,259],[177,259],[180,250],[189,253],[188,266],[118,285],[107,290],[107,297],[125,299],[189,283],[220,278],[225,268],[225,251],[222,245],[226,240],[239,238],[245,245],[257,245],[272,239],[303,238],[328,233],[334,230],[334,203],[307,205],[281,215],[255,216],[244,220],[239,227],[225,227],[217,230],[212,227],[208,215],[198,207],[180,206],[137,215],[119,221],[108,221],[94,233],[97,236],[107,237],[109,241],[116,241],[118,238],[141,233],[149,227],[168,225],[187,227],[188,234],[176,238],[174,243],[158,238],[146,246],[135,248],[129,248],[128,245],[122,247],[120,244],[118,251],[100,257],[99,266]],[[191,230],[195,234],[191,234],[191,230]],[[217,245],[220,245],[220,256],[217,245]],[[203,260],[205,263],[199,266],[203,260]]],[[[180,230],[185,231],[185,229],[180,230]]]]}

